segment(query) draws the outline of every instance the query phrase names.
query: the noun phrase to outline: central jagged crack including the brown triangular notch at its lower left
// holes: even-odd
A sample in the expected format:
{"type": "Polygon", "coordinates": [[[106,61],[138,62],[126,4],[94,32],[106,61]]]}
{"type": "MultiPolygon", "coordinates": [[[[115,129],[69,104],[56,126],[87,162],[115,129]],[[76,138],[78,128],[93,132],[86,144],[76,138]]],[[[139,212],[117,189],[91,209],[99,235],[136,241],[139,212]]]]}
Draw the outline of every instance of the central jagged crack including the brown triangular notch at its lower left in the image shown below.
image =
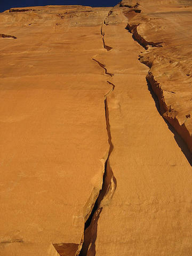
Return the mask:
{"type": "MultiPolygon", "coordinates": [[[[108,16],[112,12],[108,13],[108,16]]],[[[105,22],[104,22],[105,23],[105,22]]],[[[105,44],[105,33],[102,32],[101,26],[101,36],[103,41],[103,48],[107,51],[113,49],[110,46],[105,44]]],[[[98,65],[105,70],[105,74],[109,75],[110,77],[114,76],[113,73],[109,73],[107,71],[106,65],[101,63],[100,61],[92,58],[98,65]]],[[[111,90],[104,96],[104,103],[105,103],[105,117],[106,117],[106,129],[108,134],[108,143],[109,143],[109,150],[107,159],[105,161],[105,171],[103,173],[103,181],[102,181],[102,188],[99,191],[99,195],[97,198],[94,198],[92,195],[90,196],[89,201],[86,203],[85,206],[85,225],[84,225],[84,233],[81,239],[81,243],[72,244],[72,243],[61,243],[61,244],[52,244],[53,247],[51,248],[51,254],[54,254],[55,251],[53,248],[59,253],[60,256],[94,256],[95,251],[95,241],[97,238],[97,225],[100,213],[103,209],[103,206],[109,205],[113,195],[115,193],[117,187],[117,181],[114,177],[113,171],[111,169],[109,163],[109,157],[111,152],[113,151],[113,143],[111,142],[111,134],[110,134],[110,123],[109,123],[109,110],[107,105],[107,95],[109,95],[115,89],[115,85],[110,81],[107,81],[108,84],[111,85],[111,90]],[[91,205],[91,206],[90,206],[91,205]]],[[[92,193],[94,194],[94,193],[92,193]]]]}

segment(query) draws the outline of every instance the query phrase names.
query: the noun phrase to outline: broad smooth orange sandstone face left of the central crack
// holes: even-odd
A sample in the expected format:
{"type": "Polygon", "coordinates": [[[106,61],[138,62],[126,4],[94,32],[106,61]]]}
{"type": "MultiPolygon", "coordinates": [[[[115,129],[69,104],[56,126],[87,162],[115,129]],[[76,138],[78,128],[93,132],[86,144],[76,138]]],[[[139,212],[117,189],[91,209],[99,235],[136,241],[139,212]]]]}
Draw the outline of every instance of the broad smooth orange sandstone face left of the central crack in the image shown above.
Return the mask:
{"type": "Polygon", "coordinates": [[[19,10],[0,14],[15,37],[0,38],[0,254],[75,255],[108,155],[110,85],[92,60],[108,8],[19,10]]]}

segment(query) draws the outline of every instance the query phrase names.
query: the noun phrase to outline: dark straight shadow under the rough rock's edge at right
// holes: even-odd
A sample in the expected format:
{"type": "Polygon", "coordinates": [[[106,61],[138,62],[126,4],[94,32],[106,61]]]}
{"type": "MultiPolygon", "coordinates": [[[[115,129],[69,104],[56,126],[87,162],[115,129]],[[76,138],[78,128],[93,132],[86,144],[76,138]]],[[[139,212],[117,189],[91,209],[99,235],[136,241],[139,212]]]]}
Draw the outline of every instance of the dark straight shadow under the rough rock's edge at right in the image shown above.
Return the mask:
{"type": "MultiPolygon", "coordinates": [[[[148,85],[148,90],[151,94],[151,97],[154,99],[155,106],[158,110],[158,113],[162,116],[157,96],[154,93],[153,89],[151,88],[149,81],[147,79],[146,79],[146,81],[147,81],[147,85],[148,85]]],[[[180,147],[182,153],[186,156],[187,161],[189,162],[190,166],[192,166],[192,154],[190,153],[190,151],[186,145],[186,142],[181,138],[179,133],[177,131],[175,131],[174,127],[163,116],[162,116],[162,118],[164,119],[165,123],[167,124],[169,130],[174,134],[174,139],[177,142],[177,145],[180,147]]]]}

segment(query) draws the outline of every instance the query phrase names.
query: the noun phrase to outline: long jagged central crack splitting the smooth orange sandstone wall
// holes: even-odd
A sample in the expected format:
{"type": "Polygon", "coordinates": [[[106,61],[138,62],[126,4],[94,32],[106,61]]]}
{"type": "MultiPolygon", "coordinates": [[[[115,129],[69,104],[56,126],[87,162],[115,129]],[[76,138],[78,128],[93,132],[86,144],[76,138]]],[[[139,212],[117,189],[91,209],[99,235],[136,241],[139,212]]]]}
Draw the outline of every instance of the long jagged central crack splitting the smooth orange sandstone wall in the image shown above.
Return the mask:
{"type": "MultiPolygon", "coordinates": [[[[112,47],[106,46],[104,41],[104,33],[102,34],[102,28],[101,28],[101,35],[103,40],[103,47],[109,51],[112,49],[112,47]],[[110,49],[109,49],[110,48],[110,49]]],[[[109,73],[107,71],[106,65],[101,63],[100,61],[93,58],[95,62],[98,63],[98,65],[105,70],[105,74],[109,75],[110,77],[114,76],[114,74],[109,73]]],[[[113,143],[111,141],[111,133],[110,133],[110,123],[109,123],[109,109],[108,109],[108,103],[107,103],[107,97],[108,95],[114,91],[115,85],[109,81],[107,81],[108,84],[111,85],[111,90],[105,95],[105,117],[106,117],[106,129],[108,134],[108,143],[109,143],[109,151],[108,151],[108,157],[105,162],[105,172],[103,174],[103,183],[102,188],[100,190],[99,196],[94,204],[93,210],[90,214],[89,219],[85,222],[85,228],[84,228],[84,242],[82,244],[82,250],[79,254],[79,256],[95,256],[95,241],[97,239],[97,226],[98,226],[98,220],[101,211],[103,210],[104,206],[107,206],[110,204],[111,199],[113,198],[117,181],[114,177],[113,171],[110,166],[110,154],[113,151],[113,143]]]]}

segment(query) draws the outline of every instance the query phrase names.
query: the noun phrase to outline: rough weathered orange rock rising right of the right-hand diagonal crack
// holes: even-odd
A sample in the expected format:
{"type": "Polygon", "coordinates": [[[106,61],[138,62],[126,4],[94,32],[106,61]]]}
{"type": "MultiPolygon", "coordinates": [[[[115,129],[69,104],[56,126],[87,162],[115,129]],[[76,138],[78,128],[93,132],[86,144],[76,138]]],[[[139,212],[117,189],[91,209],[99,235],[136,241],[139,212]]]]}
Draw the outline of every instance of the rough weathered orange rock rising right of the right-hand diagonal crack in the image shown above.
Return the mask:
{"type": "Polygon", "coordinates": [[[127,29],[147,51],[140,60],[150,67],[147,80],[156,93],[164,118],[192,151],[191,1],[123,1],[127,29]],[[138,11],[140,11],[138,15],[138,11]],[[155,48],[155,49],[154,49],[155,48]],[[153,49],[153,50],[152,50],[153,49]]]}

